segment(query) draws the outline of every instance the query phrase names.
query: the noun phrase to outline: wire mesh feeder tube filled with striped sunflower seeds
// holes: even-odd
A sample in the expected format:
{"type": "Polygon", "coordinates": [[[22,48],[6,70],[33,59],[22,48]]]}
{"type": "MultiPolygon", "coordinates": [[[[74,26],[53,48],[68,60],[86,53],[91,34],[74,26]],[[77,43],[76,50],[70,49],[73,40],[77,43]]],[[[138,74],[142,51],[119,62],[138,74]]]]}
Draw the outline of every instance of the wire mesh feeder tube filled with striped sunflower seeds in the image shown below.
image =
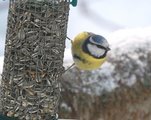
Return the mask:
{"type": "Polygon", "coordinates": [[[69,4],[10,0],[1,85],[4,116],[50,120],[56,115],[69,4]]]}

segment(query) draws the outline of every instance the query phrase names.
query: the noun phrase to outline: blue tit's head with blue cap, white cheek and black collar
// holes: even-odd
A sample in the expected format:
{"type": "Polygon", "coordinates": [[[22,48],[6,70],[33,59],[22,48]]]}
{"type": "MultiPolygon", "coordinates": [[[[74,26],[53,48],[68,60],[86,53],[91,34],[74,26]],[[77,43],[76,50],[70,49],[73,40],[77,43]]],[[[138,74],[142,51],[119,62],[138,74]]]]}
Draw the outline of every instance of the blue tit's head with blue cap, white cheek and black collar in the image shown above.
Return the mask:
{"type": "Polygon", "coordinates": [[[110,50],[107,40],[103,36],[95,34],[85,40],[82,49],[94,58],[103,58],[110,50]]]}

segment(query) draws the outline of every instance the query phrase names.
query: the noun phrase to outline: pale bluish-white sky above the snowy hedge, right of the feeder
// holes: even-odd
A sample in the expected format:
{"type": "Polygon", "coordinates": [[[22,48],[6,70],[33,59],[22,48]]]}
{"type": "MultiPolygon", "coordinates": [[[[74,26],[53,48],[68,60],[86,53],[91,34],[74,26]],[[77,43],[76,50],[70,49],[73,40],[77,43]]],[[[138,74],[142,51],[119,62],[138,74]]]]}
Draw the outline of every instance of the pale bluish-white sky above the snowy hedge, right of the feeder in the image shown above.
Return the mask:
{"type": "Polygon", "coordinates": [[[143,28],[151,25],[151,0],[79,0],[70,7],[68,36],[81,31],[108,36],[125,28],[143,28]]]}

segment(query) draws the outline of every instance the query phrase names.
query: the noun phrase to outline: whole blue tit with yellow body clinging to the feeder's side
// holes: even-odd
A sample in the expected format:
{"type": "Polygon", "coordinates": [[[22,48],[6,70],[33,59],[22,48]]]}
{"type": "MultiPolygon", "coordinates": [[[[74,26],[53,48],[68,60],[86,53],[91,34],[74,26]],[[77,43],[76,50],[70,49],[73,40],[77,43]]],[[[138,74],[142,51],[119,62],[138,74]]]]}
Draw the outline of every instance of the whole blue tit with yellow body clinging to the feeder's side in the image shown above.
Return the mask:
{"type": "Polygon", "coordinates": [[[107,40],[94,33],[82,32],[72,41],[72,56],[75,66],[81,70],[94,70],[105,61],[110,50],[107,40]]]}

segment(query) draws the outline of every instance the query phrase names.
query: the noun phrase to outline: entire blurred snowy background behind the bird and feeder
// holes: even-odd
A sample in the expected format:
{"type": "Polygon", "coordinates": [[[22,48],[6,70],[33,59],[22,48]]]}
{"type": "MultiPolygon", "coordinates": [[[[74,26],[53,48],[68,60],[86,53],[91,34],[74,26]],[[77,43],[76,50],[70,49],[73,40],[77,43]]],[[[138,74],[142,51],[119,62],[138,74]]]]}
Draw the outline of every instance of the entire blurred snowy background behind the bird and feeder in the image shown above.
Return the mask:
{"type": "MultiPolygon", "coordinates": [[[[0,0],[0,73],[8,4],[0,0]]],[[[76,7],[70,6],[67,36],[94,32],[106,37],[112,50],[102,68],[73,68],[63,76],[62,118],[151,120],[150,5],[151,0],[78,0],[76,7]]],[[[65,67],[73,62],[70,47],[66,40],[65,67]]]]}

